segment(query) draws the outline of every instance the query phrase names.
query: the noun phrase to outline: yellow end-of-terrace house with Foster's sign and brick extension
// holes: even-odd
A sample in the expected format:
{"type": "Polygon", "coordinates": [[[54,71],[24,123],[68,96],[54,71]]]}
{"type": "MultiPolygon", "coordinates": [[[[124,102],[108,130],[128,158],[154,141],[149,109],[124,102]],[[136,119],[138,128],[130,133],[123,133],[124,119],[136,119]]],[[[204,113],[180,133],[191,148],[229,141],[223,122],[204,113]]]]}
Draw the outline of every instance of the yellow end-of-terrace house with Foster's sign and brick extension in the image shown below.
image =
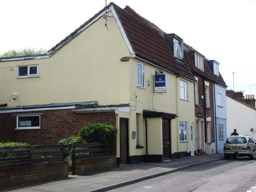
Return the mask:
{"type": "Polygon", "coordinates": [[[198,79],[184,48],[176,34],[110,3],[47,54],[0,59],[0,140],[56,144],[106,122],[118,127],[118,163],[194,155],[205,141],[196,140],[198,79]]]}

